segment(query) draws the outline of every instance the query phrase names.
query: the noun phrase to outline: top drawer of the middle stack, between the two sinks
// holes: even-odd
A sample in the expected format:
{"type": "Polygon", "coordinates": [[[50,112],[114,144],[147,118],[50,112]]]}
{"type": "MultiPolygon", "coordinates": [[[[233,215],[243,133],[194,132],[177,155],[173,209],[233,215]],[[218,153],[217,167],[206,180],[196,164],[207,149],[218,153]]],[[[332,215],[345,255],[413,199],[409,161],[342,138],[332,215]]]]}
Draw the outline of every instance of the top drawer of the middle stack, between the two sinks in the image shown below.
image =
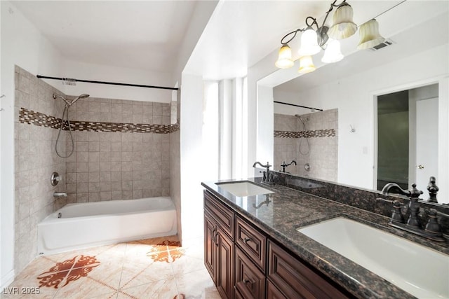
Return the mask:
{"type": "Polygon", "coordinates": [[[265,273],[267,237],[239,216],[236,216],[236,244],[265,273]]]}

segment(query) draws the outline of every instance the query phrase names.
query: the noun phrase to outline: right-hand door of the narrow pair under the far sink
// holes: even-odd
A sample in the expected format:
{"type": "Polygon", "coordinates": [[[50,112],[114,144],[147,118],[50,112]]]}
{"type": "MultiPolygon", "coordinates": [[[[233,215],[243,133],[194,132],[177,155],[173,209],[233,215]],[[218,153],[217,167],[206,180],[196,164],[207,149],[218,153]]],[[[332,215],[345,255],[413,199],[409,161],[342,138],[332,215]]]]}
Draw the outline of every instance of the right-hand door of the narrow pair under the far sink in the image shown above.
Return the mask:
{"type": "Polygon", "coordinates": [[[215,285],[222,298],[234,298],[234,243],[217,227],[217,280],[215,285]]]}

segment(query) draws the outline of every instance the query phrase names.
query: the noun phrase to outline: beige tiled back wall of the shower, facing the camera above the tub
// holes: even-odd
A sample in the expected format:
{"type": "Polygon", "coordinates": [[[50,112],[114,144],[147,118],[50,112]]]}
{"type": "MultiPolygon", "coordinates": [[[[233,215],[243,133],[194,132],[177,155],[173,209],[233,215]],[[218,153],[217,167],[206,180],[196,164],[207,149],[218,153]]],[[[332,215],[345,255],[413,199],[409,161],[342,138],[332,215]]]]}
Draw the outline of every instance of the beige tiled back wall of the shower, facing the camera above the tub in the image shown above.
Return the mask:
{"type": "MultiPolygon", "coordinates": [[[[68,202],[170,195],[170,104],[89,97],[79,99],[70,113],[73,125],[89,123],[95,130],[156,124],[163,125],[163,134],[137,126],[128,132],[74,132],[74,153],[67,158],[68,202]]],[[[68,151],[67,131],[65,137],[68,151]]]]}

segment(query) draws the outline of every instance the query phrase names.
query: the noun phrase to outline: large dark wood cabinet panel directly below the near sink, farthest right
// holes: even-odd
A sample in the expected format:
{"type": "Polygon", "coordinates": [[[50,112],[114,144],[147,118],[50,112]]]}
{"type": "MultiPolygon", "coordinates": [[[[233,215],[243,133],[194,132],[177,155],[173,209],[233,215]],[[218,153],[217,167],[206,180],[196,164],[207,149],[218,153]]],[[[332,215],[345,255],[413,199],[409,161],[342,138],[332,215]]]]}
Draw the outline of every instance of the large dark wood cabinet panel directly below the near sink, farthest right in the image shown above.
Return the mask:
{"type": "Polygon", "coordinates": [[[347,298],[326,279],[290,256],[273,242],[268,242],[267,277],[287,298],[347,298]]]}

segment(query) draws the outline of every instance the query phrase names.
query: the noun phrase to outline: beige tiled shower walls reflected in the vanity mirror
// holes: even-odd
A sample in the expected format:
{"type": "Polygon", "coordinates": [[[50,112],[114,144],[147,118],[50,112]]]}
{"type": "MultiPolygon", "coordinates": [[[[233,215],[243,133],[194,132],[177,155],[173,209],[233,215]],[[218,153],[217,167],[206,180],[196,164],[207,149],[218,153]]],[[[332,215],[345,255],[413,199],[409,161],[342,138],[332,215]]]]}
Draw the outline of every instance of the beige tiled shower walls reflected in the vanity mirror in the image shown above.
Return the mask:
{"type": "Polygon", "coordinates": [[[338,110],[303,114],[306,130],[296,116],[274,114],[274,169],[292,160],[286,172],[337,181],[338,110]],[[307,141],[309,143],[307,144],[307,141]],[[308,163],[309,171],[304,167],[308,163]]]}

